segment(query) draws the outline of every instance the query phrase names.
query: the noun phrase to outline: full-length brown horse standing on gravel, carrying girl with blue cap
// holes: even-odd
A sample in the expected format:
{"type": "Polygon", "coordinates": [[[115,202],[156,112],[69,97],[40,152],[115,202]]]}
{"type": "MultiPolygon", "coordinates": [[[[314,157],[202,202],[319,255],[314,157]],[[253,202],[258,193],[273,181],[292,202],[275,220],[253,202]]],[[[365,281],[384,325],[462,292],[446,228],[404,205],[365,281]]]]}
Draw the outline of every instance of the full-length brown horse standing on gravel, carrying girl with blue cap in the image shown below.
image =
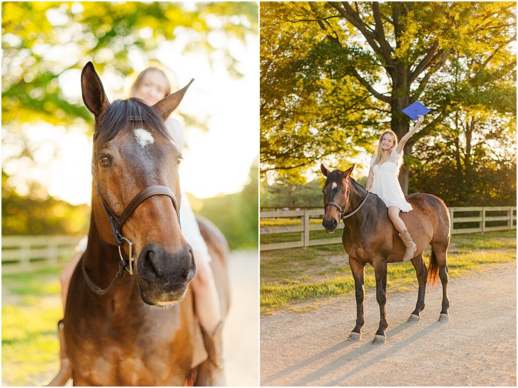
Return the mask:
{"type": "MultiPolygon", "coordinates": [[[[361,339],[364,324],[364,268],[372,265],[376,277],[376,299],[380,306],[380,325],[372,343],[385,343],[385,329],[388,326],[385,314],[387,263],[402,261],[405,245],[389,219],[385,203],[376,194],[367,192],[350,177],[354,165],[346,171],[329,171],[323,164],[322,174],[327,177],[324,193],[325,216],[322,221],[326,232],[335,233],[338,222],[343,219],[342,243],[349,254],[349,265],[354,277],[356,291],[356,326],[350,341],[361,339]]],[[[418,301],[408,319],[418,322],[424,309],[427,278],[432,284],[437,275],[442,283],[442,309],[440,322],[447,322],[448,308],[448,265],[446,255],[450,244],[450,214],[440,198],[430,194],[412,194],[406,197],[412,205],[410,212],[401,212],[400,217],[410,232],[417,249],[411,259],[419,281],[418,301]],[[423,251],[431,246],[428,269],[423,261],[423,251]]]]}

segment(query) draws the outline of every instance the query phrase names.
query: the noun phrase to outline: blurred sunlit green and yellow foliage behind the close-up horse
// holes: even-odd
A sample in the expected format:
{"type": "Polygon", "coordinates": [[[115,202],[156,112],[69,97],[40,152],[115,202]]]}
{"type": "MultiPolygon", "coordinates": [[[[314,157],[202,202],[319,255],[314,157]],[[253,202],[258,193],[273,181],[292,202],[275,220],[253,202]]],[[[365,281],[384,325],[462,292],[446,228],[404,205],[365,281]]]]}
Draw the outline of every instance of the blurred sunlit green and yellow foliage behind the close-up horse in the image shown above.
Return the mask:
{"type": "MultiPolygon", "coordinates": [[[[212,63],[224,63],[228,73],[239,78],[239,61],[231,42],[245,41],[257,29],[258,4],[254,2],[3,2],[2,138],[3,146],[12,142],[18,149],[8,157],[34,160],[37,146],[31,146],[24,134],[32,123],[47,122],[92,134],[92,114],[80,98],[70,99],[61,89],[60,77],[67,71],[80,71],[93,61],[99,74],[124,79],[134,71],[128,55],[136,51],[145,60],[153,60],[162,42],[182,35],[189,37],[184,52],[203,53],[212,63]],[[224,44],[213,46],[211,34],[223,34],[224,44]],[[49,59],[56,48],[65,50],[67,56],[49,59]]],[[[122,95],[122,90],[116,92],[122,95]]],[[[207,118],[182,118],[186,126],[207,129],[207,118]]],[[[203,200],[200,213],[222,229],[231,248],[257,246],[256,177],[255,166],[242,192],[203,200]],[[241,218],[239,224],[234,217],[241,218]]],[[[2,170],[2,234],[88,232],[89,206],[53,198],[36,181],[28,181],[29,192],[21,195],[10,178],[15,176],[2,170]]]]}

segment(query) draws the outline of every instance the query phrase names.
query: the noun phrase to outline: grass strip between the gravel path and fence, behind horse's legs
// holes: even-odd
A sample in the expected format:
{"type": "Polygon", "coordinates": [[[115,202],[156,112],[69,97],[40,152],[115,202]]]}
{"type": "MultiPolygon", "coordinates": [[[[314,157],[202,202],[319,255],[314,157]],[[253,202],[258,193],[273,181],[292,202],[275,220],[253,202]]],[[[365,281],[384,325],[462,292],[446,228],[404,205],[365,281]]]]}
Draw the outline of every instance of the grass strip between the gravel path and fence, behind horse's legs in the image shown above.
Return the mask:
{"type": "MultiPolygon", "coordinates": [[[[354,292],[354,280],[344,265],[341,244],[261,252],[261,313],[311,299],[354,292]]],[[[429,247],[425,257],[429,256],[429,247]]],[[[516,260],[516,231],[453,235],[448,251],[450,277],[481,272],[488,265],[516,260]]],[[[370,265],[365,267],[365,289],[376,285],[370,265]]],[[[403,291],[417,288],[410,262],[389,265],[387,289],[403,291]]]]}

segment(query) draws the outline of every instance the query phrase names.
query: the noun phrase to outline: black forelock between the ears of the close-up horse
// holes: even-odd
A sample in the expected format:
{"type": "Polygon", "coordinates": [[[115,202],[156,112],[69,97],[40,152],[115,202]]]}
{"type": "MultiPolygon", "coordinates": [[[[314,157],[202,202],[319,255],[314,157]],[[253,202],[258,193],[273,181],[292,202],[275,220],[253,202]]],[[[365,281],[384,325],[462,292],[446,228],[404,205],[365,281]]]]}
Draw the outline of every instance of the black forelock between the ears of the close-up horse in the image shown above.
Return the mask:
{"type": "Polygon", "coordinates": [[[138,127],[146,122],[162,136],[171,139],[160,114],[139,98],[115,100],[95,125],[94,142],[100,145],[110,141],[128,127],[138,127]]]}

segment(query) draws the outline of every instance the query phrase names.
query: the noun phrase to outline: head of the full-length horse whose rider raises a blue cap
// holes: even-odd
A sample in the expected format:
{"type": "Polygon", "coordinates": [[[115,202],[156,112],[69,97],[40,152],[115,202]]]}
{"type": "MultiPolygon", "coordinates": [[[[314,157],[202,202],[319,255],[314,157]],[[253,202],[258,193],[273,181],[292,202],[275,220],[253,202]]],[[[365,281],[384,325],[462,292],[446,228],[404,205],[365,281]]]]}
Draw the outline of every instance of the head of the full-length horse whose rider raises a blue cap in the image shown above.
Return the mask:
{"type": "Polygon", "coordinates": [[[350,182],[348,180],[354,169],[354,164],[345,171],[333,170],[329,171],[323,164],[320,165],[320,170],[326,181],[322,193],[324,193],[324,219],[322,226],[324,226],[327,233],[335,233],[338,229],[338,223],[343,218],[351,207],[349,195],[350,182]]]}

